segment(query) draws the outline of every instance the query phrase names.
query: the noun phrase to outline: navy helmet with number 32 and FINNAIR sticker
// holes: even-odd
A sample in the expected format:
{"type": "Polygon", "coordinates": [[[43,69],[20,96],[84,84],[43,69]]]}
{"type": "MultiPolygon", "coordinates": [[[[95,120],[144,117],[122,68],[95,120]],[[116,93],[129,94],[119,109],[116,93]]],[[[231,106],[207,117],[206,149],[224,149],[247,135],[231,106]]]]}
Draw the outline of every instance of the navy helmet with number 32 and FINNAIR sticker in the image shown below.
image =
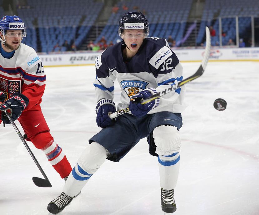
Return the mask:
{"type": "Polygon", "coordinates": [[[126,12],[119,22],[119,35],[124,29],[144,29],[145,37],[149,35],[149,21],[142,12],[126,12]]]}

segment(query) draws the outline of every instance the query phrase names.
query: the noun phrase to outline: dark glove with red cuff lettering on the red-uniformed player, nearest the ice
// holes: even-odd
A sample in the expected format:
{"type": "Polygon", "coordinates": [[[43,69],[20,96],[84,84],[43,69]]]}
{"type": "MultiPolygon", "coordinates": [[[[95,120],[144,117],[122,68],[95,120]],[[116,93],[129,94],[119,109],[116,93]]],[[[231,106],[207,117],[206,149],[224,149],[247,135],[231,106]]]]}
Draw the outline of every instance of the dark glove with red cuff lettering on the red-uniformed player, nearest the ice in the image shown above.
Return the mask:
{"type": "Polygon", "coordinates": [[[22,95],[21,93],[14,93],[12,98],[6,100],[0,107],[0,110],[2,110],[2,121],[5,124],[11,123],[5,115],[4,110],[10,110],[10,116],[14,121],[20,117],[22,111],[28,106],[28,104],[29,99],[25,95],[22,95]]]}

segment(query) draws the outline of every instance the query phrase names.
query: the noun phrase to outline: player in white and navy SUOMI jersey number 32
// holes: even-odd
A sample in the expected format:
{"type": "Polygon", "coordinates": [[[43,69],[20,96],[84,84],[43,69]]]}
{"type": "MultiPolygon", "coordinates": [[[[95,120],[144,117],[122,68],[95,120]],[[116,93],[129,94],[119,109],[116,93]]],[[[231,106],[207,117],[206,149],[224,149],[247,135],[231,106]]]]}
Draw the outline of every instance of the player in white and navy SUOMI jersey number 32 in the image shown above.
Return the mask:
{"type": "Polygon", "coordinates": [[[162,210],[175,212],[185,86],[144,105],[139,102],[163,91],[169,84],[182,81],[183,67],[166,39],[147,37],[148,34],[149,23],[144,15],[127,12],[119,22],[122,42],[96,58],[96,122],[103,129],[89,140],[90,145],[78,159],[63,192],[48,204],[49,212],[62,211],[105,159],[119,162],[145,137],[148,137],[149,153],[158,157],[162,210]],[[118,110],[129,106],[130,112],[114,120],[109,114],[116,112],[113,102],[116,79],[121,88],[118,110]]]}

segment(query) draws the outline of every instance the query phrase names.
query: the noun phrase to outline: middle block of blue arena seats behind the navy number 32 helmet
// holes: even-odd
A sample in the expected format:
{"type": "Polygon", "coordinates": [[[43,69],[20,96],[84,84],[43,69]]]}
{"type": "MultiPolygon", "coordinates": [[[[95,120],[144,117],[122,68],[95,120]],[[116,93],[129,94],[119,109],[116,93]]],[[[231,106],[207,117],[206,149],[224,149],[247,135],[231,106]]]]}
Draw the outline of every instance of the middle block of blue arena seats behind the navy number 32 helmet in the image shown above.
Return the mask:
{"type": "Polygon", "coordinates": [[[164,0],[163,3],[156,0],[119,2],[117,4],[119,7],[118,12],[111,14],[107,25],[94,43],[98,42],[102,36],[105,36],[107,42],[113,41],[115,43],[117,40],[120,40],[118,24],[120,18],[126,12],[122,9],[124,4],[129,8],[128,11],[138,10],[144,12],[144,15],[149,20],[150,36],[168,38],[169,35],[172,35],[178,41],[183,37],[192,0],[180,2],[164,0]]]}

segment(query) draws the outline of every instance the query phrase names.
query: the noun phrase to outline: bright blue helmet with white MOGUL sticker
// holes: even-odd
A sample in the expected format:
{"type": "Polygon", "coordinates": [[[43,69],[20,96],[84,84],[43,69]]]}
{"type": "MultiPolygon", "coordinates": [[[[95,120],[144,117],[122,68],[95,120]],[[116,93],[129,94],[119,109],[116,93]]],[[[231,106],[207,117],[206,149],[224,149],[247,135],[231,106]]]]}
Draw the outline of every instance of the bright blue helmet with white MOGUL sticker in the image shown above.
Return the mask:
{"type": "Polygon", "coordinates": [[[3,36],[6,35],[7,30],[22,30],[22,38],[26,37],[26,27],[22,19],[18,16],[4,16],[0,20],[0,29],[3,36]]]}

